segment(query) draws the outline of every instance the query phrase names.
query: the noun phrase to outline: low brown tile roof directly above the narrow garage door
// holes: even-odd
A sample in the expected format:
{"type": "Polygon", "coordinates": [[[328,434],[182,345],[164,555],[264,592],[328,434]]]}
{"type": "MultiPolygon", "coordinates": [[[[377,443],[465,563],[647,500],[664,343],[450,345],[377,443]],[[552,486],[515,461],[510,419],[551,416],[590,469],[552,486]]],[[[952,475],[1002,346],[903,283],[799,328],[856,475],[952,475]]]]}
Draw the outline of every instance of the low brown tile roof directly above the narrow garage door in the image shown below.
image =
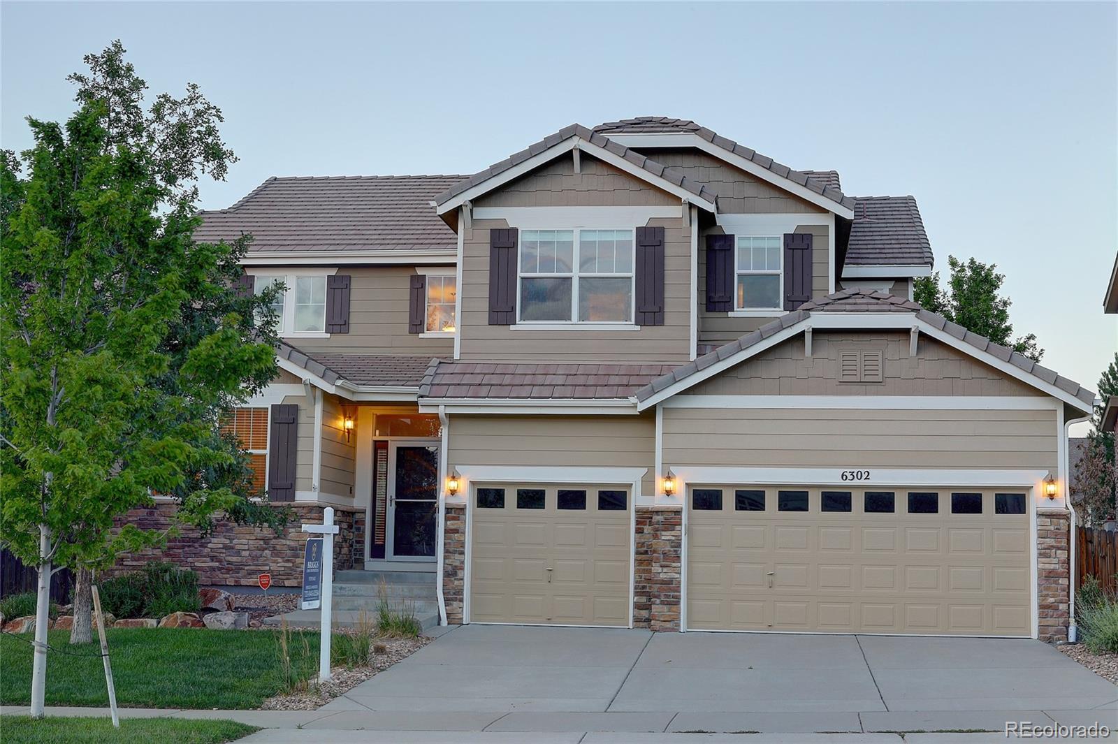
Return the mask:
{"type": "Polygon", "coordinates": [[[672,364],[518,364],[439,362],[419,387],[421,398],[616,400],[671,370],[672,364]]]}

